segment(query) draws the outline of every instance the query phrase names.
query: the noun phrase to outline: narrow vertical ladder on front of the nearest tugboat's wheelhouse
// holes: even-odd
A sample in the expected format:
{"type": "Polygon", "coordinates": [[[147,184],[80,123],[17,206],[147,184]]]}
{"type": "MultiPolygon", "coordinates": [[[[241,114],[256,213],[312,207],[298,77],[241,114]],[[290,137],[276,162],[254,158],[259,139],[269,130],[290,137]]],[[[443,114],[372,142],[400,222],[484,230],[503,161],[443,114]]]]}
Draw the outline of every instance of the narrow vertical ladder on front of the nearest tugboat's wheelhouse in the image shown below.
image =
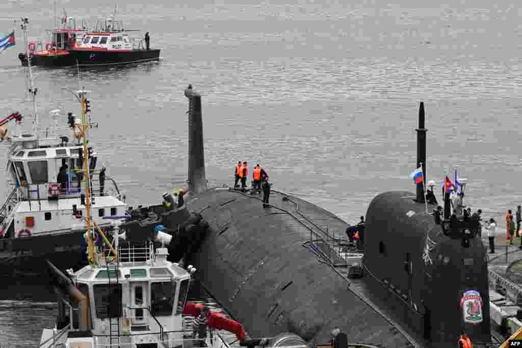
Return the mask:
{"type": "MultiPolygon", "coordinates": [[[[120,317],[122,311],[122,289],[120,285],[119,262],[106,262],[107,279],[109,280],[109,347],[120,348],[120,317]]],[[[121,285],[120,285],[121,286],[121,285]]]]}

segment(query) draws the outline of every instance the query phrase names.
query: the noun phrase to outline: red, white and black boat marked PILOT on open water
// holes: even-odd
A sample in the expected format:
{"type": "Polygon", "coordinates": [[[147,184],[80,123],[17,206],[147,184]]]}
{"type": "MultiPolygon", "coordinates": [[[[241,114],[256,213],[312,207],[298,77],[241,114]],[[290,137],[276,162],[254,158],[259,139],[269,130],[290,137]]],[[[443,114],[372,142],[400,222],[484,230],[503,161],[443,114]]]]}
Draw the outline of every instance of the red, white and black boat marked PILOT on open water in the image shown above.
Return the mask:
{"type": "MultiPolygon", "coordinates": [[[[31,45],[31,64],[46,67],[117,65],[159,61],[159,49],[150,49],[145,38],[136,39],[129,35],[135,30],[124,30],[122,21],[114,15],[98,20],[92,30],[86,23],[76,26],[74,20],[66,19],[64,26],[52,32],[52,42],[45,48],[35,50],[31,45]]],[[[22,65],[27,65],[27,55],[19,54],[22,65]]]]}

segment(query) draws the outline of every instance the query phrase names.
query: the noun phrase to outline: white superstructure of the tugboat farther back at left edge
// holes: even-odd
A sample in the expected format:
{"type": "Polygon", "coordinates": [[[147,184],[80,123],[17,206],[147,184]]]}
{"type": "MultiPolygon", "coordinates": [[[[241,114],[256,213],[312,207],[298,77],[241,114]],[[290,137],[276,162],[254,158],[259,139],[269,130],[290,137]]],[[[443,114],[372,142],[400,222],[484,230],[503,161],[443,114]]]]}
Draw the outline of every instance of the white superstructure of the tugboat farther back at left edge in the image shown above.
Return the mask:
{"type": "MultiPolygon", "coordinates": [[[[7,163],[14,187],[0,209],[0,238],[60,234],[81,229],[85,216],[85,182],[82,182],[83,149],[62,138],[16,141],[7,163]],[[65,165],[68,167],[65,168],[65,165]]],[[[112,179],[96,169],[97,153],[89,155],[91,214],[98,225],[109,225],[110,217],[125,215],[112,179]],[[101,180],[100,180],[101,178],[101,180]],[[91,201],[92,201],[91,199],[91,201]],[[109,219],[105,219],[109,217],[109,219]]]]}

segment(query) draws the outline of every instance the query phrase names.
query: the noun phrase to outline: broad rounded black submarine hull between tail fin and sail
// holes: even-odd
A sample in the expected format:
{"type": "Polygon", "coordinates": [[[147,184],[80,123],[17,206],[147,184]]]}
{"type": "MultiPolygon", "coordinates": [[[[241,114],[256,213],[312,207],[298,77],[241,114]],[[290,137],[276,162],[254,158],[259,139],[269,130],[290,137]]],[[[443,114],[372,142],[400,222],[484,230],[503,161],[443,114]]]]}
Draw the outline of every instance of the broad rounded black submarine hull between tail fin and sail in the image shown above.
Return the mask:
{"type": "Polygon", "coordinates": [[[350,281],[346,268],[327,261],[330,257],[336,266],[345,262],[346,267],[328,243],[333,235],[345,236],[345,221],[276,190],[271,191],[269,208],[263,208],[260,197],[219,188],[186,201],[189,210],[203,215],[211,226],[201,245],[205,255],[192,255],[199,266],[198,279],[245,323],[249,334],[266,337],[291,331],[327,342],[330,331],[339,327],[349,342],[389,348],[426,345],[400,316],[380,309],[381,303],[394,299],[372,297],[364,278],[350,281]],[[263,305],[253,305],[259,301],[263,305]],[[293,317],[304,319],[293,322],[293,317]]]}

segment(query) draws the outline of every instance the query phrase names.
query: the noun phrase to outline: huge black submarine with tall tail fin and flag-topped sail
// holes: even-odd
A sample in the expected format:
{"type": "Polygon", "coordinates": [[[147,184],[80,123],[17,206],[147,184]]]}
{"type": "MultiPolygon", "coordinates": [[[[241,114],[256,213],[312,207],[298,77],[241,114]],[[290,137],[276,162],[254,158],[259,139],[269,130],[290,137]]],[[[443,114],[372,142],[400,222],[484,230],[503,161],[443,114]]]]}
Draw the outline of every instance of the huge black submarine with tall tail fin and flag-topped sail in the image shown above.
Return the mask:
{"type": "MultiPolygon", "coordinates": [[[[462,333],[491,342],[478,221],[451,215],[448,194],[443,216],[431,212],[422,183],[416,193],[377,195],[366,213],[363,277],[349,280],[328,242],[328,229],[344,233],[348,224],[333,213],[274,190],[264,208],[256,195],[207,188],[201,95],[189,86],[185,96],[185,206],[206,224],[185,262],[251,337],[291,332],[322,344],[338,328],[349,342],[390,348],[446,348],[462,333]]],[[[416,164],[425,181],[424,124],[421,103],[416,164]]]]}

